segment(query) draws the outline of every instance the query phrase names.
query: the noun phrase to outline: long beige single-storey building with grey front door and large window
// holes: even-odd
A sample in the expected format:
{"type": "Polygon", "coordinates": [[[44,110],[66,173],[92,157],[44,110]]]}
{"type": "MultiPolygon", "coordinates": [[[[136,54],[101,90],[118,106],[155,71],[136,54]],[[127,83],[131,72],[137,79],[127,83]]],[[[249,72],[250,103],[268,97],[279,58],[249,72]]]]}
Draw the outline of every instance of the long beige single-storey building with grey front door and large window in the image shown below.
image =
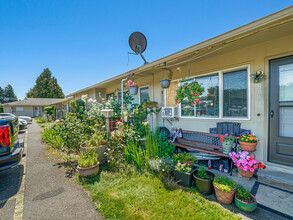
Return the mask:
{"type": "Polygon", "coordinates": [[[267,165],[292,169],[293,7],[69,96],[79,99],[87,94],[97,100],[110,97],[126,77],[134,77],[140,86],[134,96],[136,103],[149,96],[160,106],[178,107],[178,120],[169,123],[159,113],[153,115],[153,125],[209,132],[217,122],[240,122],[242,128],[259,138],[257,158],[267,165]],[[161,89],[165,63],[165,77],[170,75],[172,82],[168,89],[161,89]],[[251,74],[258,71],[266,77],[255,83],[251,74]],[[176,89],[183,78],[203,84],[201,105],[175,103],[176,89]]]}

